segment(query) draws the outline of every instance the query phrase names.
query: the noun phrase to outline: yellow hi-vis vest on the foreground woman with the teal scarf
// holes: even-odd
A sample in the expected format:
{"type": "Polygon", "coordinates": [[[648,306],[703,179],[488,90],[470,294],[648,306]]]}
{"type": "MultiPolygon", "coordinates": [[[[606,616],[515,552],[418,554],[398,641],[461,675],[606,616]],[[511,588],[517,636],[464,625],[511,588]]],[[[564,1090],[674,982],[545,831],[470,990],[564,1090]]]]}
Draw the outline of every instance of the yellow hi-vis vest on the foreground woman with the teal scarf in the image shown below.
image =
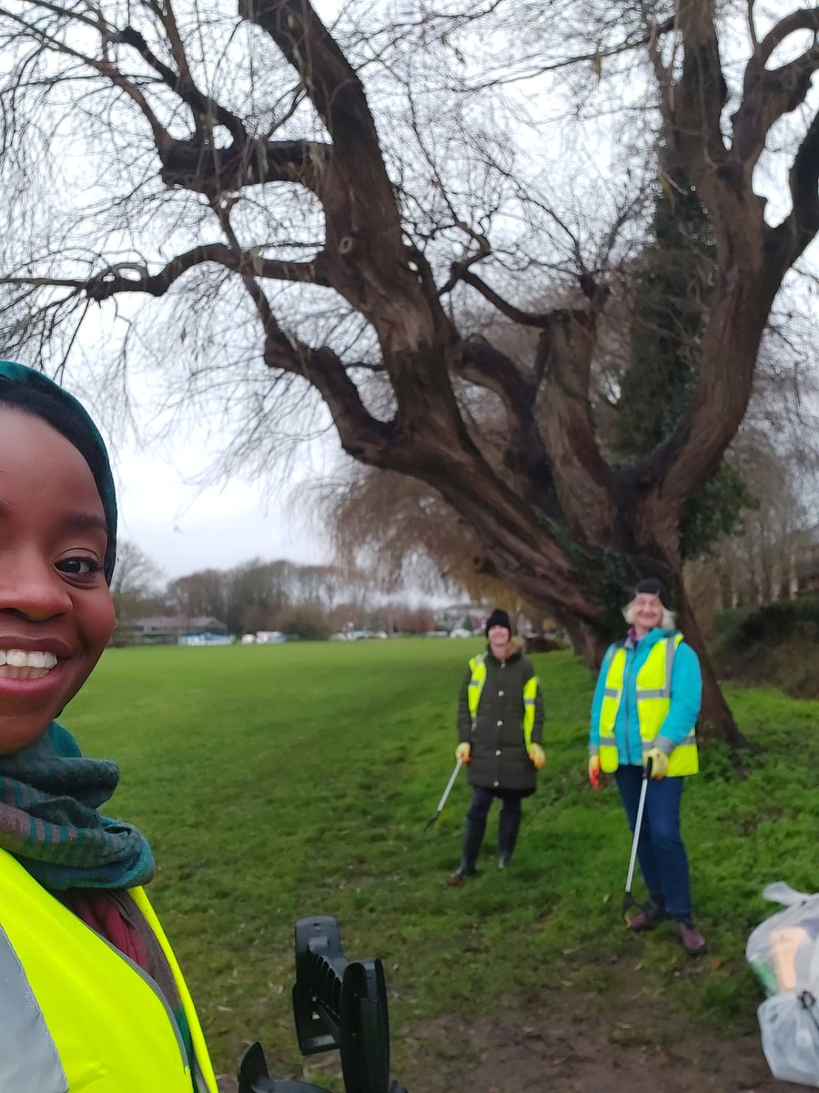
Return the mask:
{"type": "Polygon", "coordinates": [[[174,973],[194,1074],[153,979],[0,850],[3,1093],[217,1093],[179,965],[144,891],[131,895],[174,973]]]}

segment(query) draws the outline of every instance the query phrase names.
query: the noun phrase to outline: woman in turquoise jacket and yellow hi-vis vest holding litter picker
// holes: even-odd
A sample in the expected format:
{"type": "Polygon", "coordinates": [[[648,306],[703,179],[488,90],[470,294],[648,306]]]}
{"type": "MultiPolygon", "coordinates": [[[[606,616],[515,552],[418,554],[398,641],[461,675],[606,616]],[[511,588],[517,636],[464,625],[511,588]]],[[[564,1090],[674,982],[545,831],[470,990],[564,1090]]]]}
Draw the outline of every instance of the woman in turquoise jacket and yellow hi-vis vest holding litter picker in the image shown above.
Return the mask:
{"type": "Polygon", "coordinates": [[[685,778],[699,769],[695,726],[702,678],[697,654],[668,608],[665,586],[651,577],[636,586],[624,610],[628,633],[606,651],[594,692],[589,778],[596,788],[601,772],[614,774],[633,832],[643,769],[651,760],[638,844],[649,903],[629,926],[646,930],[672,918],[686,951],[696,955],[705,939],[691,921],[679,809],[685,778]]]}

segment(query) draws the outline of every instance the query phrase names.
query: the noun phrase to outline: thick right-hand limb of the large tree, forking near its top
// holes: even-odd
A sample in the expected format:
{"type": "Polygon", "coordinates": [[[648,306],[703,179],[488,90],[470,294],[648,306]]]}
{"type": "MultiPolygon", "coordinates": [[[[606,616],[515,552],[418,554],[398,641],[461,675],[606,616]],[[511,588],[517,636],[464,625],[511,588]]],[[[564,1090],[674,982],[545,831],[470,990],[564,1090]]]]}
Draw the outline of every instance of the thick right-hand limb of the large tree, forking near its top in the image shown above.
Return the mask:
{"type": "MultiPolygon", "coordinates": [[[[744,98],[733,119],[734,141],[724,155],[716,133],[724,87],[712,7],[711,0],[680,5],[687,60],[681,85],[674,89],[673,122],[685,168],[711,215],[721,274],[688,411],[673,436],[618,480],[618,489],[631,493],[632,500],[643,491],[649,497],[648,521],[664,520],[667,528],[679,518],[691,491],[715,469],[735,435],[750,397],[765,318],[782,278],[819,228],[816,119],[791,172],[793,211],[779,227],[765,225],[763,203],[752,189],[752,169],[768,132],[778,118],[804,102],[819,67],[819,48],[815,42],[796,60],[775,70],[768,70],[765,62],[796,31],[816,35],[819,12],[794,12],[756,48],[745,73],[744,98]]],[[[668,541],[672,538],[668,532],[668,541]]]]}

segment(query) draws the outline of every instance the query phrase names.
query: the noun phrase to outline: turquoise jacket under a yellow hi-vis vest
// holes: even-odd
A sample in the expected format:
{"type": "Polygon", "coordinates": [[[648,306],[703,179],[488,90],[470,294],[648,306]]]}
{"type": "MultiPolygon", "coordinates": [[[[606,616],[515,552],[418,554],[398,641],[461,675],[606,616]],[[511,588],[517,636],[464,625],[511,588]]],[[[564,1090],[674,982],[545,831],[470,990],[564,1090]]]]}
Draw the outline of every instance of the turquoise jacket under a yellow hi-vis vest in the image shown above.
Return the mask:
{"type": "MultiPolygon", "coordinates": [[[[637,716],[637,673],[645,663],[649,653],[657,642],[674,637],[678,631],[661,630],[655,626],[641,638],[629,635],[622,642],[616,642],[606,650],[603,658],[597,685],[594,689],[592,702],[592,726],[589,733],[589,751],[595,754],[600,750],[600,714],[603,706],[603,692],[606,687],[606,674],[612,657],[619,648],[626,650],[626,668],[624,670],[624,696],[615,721],[617,738],[617,754],[620,765],[642,765],[642,743],[640,740],[640,722],[637,716]]],[[[702,675],[700,661],[690,645],[680,642],[674,658],[672,669],[672,704],[668,715],[660,728],[656,747],[670,754],[693,728],[700,713],[702,702],[702,675]]]]}

